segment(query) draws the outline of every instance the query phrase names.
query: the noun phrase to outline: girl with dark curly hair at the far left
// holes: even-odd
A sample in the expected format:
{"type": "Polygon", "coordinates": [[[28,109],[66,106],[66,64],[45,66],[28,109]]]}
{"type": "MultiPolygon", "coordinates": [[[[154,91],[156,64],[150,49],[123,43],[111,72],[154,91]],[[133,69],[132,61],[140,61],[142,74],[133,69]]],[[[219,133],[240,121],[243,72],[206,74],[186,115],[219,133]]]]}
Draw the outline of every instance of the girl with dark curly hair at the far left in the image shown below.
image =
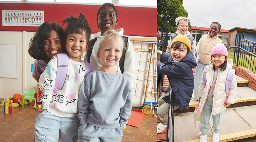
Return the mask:
{"type": "Polygon", "coordinates": [[[57,23],[45,22],[36,29],[34,37],[30,40],[28,53],[36,61],[33,65],[33,78],[39,82],[50,59],[62,53],[64,30],[57,23]]]}

